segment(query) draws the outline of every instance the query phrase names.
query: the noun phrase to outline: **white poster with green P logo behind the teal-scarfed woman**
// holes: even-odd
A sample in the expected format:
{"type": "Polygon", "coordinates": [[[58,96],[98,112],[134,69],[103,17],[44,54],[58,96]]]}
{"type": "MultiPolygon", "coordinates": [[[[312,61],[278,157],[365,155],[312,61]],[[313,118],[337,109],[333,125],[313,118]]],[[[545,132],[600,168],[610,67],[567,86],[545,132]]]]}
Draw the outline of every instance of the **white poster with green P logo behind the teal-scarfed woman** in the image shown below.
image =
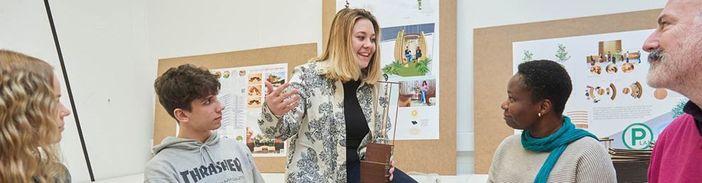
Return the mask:
{"type": "Polygon", "coordinates": [[[576,127],[612,138],[612,148],[650,149],[687,101],[679,93],[646,83],[650,64],[641,47],[652,32],[513,42],[513,71],[524,61],[557,61],[573,83],[564,115],[576,127]]]}

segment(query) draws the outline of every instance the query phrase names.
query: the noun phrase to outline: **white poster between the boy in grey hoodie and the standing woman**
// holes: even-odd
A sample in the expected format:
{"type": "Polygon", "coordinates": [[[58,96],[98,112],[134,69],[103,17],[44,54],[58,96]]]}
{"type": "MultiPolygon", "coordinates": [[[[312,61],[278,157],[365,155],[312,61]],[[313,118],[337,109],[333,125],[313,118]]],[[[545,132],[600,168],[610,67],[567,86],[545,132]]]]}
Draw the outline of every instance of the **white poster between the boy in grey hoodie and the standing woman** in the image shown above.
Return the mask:
{"type": "Polygon", "coordinates": [[[267,92],[265,81],[277,88],[286,82],[287,71],[288,64],[212,69],[221,83],[217,97],[225,106],[218,134],[246,143],[255,157],[286,156],[285,141],[264,136],[257,119],[267,92]]]}

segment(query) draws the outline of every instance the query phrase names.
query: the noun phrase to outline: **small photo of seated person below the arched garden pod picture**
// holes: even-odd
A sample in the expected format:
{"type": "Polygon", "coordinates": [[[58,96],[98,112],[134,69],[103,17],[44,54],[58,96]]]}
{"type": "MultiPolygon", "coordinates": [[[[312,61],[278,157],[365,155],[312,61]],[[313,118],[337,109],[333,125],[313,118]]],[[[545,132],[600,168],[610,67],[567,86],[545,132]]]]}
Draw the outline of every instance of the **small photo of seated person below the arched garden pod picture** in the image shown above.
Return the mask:
{"type": "Polygon", "coordinates": [[[400,81],[400,107],[436,106],[436,80],[418,79],[400,81]]]}

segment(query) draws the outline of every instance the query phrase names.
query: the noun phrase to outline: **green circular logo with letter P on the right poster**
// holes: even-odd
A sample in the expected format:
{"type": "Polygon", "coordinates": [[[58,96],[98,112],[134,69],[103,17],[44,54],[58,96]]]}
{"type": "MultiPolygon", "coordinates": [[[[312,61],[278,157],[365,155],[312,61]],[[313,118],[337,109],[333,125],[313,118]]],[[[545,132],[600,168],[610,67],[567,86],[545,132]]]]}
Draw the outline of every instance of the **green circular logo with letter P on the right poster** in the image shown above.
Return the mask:
{"type": "Polygon", "coordinates": [[[630,124],[622,133],[622,141],[629,149],[648,149],[653,141],[653,131],[646,124],[630,124]]]}

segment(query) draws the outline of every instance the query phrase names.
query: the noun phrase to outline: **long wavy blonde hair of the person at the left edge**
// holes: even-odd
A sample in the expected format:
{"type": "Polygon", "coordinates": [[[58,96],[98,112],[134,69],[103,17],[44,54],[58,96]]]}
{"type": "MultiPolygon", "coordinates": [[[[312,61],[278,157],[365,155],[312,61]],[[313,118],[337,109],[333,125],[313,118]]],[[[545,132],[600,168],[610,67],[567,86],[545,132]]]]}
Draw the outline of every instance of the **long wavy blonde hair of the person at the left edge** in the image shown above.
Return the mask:
{"type": "Polygon", "coordinates": [[[0,49],[0,182],[64,182],[59,99],[46,62],[0,49]]]}

